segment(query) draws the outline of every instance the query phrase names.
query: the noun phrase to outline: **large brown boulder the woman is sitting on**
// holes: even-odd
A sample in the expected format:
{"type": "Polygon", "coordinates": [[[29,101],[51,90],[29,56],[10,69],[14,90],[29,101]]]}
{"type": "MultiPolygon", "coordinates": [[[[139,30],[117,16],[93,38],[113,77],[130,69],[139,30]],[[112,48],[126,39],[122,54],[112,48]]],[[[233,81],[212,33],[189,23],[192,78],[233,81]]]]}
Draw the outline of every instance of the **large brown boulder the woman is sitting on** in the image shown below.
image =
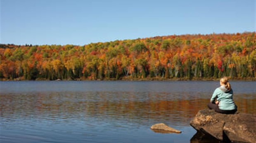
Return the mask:
{"type": "Polygon", "coordinates": [[[221,141],[256,143],[256,115],[253,114],[220,114],[204,109],[197,113],[190,125],[221,141]]]}

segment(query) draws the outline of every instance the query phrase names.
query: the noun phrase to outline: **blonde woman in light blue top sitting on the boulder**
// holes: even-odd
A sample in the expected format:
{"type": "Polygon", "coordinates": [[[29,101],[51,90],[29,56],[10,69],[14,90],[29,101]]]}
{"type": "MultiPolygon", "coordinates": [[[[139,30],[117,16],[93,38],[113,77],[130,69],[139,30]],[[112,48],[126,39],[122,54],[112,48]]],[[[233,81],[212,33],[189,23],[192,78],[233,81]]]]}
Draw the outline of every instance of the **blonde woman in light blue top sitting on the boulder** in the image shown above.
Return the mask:
{"type": "Polygon", "coordinates": [[[213,92],[208,107],[224,114],[233,114],[237,111],[237,106],[233,101],[233,90],[227,77],[220,79],[220,87],[213,92]]]}

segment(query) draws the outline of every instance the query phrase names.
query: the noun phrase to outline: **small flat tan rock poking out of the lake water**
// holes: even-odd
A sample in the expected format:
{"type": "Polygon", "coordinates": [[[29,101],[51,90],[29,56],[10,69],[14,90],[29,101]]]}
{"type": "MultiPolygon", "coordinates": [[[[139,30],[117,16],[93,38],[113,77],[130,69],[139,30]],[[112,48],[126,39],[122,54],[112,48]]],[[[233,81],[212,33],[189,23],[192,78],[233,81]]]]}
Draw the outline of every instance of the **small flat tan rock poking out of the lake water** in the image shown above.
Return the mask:
{"type": "Polygon", "coordinates": [[[152,125],[150,129],[158,133],[181,133],[181,131],[173,129],[172,127],[169,127],[164,123],[152,125]]]}

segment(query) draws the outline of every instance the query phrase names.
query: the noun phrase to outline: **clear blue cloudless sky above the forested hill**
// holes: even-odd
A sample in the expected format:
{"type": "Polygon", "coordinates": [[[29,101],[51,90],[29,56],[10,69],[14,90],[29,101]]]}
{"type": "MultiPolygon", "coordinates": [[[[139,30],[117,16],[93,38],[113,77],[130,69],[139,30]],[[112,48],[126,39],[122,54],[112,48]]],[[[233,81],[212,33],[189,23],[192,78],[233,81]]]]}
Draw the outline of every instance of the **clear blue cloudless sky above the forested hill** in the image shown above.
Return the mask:
{"type": "Polygon", "coordinates": [[[0,0],[1,44],[253,32],[256,0],[0,0]]]}

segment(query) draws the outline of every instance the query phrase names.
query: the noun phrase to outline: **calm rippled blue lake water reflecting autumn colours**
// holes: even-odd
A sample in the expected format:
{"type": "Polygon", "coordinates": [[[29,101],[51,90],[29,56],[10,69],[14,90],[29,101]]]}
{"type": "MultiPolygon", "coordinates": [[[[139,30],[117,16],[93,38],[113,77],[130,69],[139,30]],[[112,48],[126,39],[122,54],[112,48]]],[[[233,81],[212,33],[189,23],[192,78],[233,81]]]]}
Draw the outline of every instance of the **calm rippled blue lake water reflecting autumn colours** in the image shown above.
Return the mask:
{"type": "MultiPolygon", "coordinates": [[[[231,81],[239,112],[256,113],[256,82],[231,81]]],[[[1,81],[1,143],[190,143],[190,120],[218,81],[1,81]],[[161,134],[164,122],[181,134],[161,134]]]]}

